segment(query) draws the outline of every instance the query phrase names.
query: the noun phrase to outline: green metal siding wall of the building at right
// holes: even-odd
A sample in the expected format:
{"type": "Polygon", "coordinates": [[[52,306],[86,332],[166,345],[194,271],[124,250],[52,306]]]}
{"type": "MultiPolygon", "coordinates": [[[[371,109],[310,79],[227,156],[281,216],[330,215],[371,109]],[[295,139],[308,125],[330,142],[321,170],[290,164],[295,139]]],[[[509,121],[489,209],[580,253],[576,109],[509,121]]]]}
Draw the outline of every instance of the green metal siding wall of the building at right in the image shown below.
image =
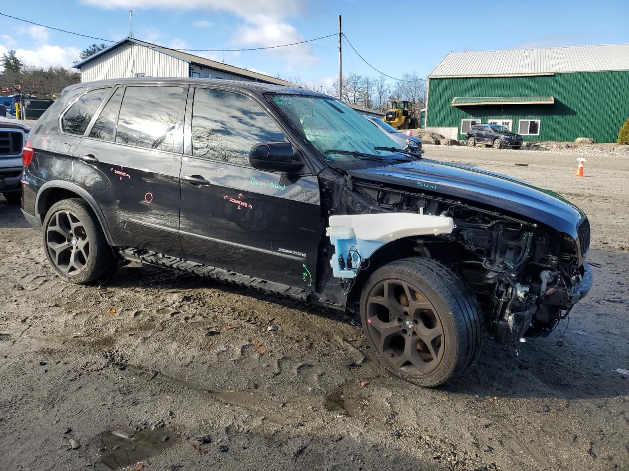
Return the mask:
{"type": "MultiPolygon", "coordinates": [[[[426,126],[457,126],[461,119],[540,119],[540,135],[527,141],[610,143],[629,117],[629,71],[557,73],[537,77],[431,78],[426,126]],[[454,97],[555,97],[554,105],[454,107],[454,97]],[[502,111],[504,110],[504,111],[502,111]]],[[[459,134],[462,139],[463,135],[459,134]]]]}

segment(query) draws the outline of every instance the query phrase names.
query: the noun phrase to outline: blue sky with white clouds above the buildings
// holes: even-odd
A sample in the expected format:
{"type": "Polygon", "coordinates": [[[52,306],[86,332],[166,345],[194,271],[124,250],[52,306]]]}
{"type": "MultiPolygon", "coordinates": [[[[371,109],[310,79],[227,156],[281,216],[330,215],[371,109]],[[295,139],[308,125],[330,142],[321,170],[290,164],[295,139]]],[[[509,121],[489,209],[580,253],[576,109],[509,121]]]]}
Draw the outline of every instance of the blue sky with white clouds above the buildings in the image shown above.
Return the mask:
{"type": "MultiPolygon", "coordinates": [[[[13,3],[15,4],[15,3],[13,3]]],[[[393,77],[415,70],[425,77],[448,51],[532,48],[629,42],[628,0],[385,2],[375,0],[31,0],[28,8],[1,13],[120,40],[175,48],[272,46],[343,32],[372,65],[393,77]],[[487,7],[487,8],[484,8],[487,7]],[[403,26],[398,28],[396,25],[403,26]],[[402,34],[401,31],[405,33],[402,34]]],[[[0,54],[18,51],[33,65],[65,65],[94,42],[0,17],[0,54]]],[[[206,53],[214,60],[327,90],[338,67],[337,38],[270,51],[206,53]]],[[[348,47],[343,72],[378,75],[348,47]]]]}

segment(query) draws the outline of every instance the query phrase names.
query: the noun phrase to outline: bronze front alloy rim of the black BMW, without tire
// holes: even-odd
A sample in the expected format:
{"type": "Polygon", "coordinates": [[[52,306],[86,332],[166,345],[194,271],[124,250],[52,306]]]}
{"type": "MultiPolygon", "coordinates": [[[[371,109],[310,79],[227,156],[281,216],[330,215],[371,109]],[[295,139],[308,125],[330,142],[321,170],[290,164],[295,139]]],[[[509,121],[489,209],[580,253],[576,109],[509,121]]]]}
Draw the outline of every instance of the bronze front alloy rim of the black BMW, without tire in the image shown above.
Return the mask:
{"type": "Polygon", "coordinates": [[[443,357],[445,336],[438,311],[412,284],[386,279],[367,298],[367,332],[391,367],[406,374],[433,371],[443,357]]]}

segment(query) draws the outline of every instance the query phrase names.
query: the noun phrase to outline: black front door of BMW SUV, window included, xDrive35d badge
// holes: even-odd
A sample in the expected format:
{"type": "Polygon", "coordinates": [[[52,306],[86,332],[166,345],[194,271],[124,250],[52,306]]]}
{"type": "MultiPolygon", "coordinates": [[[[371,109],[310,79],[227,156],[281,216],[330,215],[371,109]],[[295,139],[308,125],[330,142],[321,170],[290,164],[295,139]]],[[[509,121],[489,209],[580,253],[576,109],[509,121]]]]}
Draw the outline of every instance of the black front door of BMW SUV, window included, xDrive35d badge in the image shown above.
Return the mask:
{"type": "Polygon", "coordinates": [[[323,227],[316,176],[249,165],[254,144],[285,139],[252,99],[196,88],[188,102],[191,140],[181,167],[184,257],[314,290],[323,227]]]}

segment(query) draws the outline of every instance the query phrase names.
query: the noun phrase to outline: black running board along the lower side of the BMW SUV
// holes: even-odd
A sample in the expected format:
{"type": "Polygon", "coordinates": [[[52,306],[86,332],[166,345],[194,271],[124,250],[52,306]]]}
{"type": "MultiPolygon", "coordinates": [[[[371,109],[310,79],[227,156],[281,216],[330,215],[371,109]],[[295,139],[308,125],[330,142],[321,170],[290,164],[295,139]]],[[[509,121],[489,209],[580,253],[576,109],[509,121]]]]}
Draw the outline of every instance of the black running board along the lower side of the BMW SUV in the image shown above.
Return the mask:
{"type": "Polygon", "coordinates": [[[289,284],[275,283],[274,281],[255,278],[255,276],[236,273],[235,271],[216,268],[201,263],[190,262],[181,258],[162,255],[145,249],[135,249],[133,247],[121,249],[120,255],[131,262],[157,265],[178,271],[184,271],[186,273],[192,273],[206,278],[216,279],[218,281],[225,281],[225,283],[229,284],[248,286],[249,288],[255,288],[256,290],[272,295],[287,296],[303,302],[307,302],[308,296],[312,293],[312,291],[297,288],[296,286],[290,286],[289,284]]]}

